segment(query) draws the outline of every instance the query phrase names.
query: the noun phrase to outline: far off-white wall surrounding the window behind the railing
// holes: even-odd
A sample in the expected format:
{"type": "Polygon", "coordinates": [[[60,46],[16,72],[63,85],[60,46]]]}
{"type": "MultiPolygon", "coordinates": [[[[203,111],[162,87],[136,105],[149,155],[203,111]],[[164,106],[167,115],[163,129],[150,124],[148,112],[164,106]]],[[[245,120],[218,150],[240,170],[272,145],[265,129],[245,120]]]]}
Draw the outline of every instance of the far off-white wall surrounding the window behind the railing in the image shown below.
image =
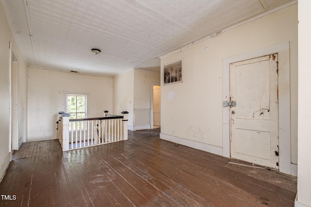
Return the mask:
{"type": "MultiPolygon", "coordinates": [[[[87,117],[112,112],[112,78],[28,68],[28,142],[56,139],[64,91],[87,93],[87,117]]],[[[66,104],[66,103],[65,103],[66,104]]]]}

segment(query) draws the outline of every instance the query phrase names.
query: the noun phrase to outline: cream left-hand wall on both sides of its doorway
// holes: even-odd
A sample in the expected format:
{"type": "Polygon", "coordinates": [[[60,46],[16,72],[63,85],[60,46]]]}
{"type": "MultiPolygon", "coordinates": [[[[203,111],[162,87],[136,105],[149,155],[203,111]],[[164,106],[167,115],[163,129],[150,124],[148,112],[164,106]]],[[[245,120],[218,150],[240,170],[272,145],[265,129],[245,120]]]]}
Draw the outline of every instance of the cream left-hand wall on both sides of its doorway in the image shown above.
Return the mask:
{"type": "Polygon", "coordinates": [[[18,136],[26,139],[27,132],[27,62],[17,46],[10,30],[2,3],[0,3],[0,179],[10,162],[9,148],[9,42],[18,61],[18,136]]]}

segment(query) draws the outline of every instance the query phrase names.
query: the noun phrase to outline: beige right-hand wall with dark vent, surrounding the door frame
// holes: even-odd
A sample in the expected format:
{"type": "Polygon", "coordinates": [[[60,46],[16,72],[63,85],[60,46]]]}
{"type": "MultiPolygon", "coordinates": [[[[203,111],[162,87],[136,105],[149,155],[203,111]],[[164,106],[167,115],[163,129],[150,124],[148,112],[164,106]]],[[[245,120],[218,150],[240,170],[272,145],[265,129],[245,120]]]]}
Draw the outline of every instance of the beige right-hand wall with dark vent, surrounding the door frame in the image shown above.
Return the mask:
{"type": "Polygon", "coordinates": [[[293,5],[162,58],[162,70],[164,64],[183,60],[183,82],[161,87],[161,133],[222,147],[223,59],[289,41],[291,154],[297,163],[297,39],[293,5]]]}

